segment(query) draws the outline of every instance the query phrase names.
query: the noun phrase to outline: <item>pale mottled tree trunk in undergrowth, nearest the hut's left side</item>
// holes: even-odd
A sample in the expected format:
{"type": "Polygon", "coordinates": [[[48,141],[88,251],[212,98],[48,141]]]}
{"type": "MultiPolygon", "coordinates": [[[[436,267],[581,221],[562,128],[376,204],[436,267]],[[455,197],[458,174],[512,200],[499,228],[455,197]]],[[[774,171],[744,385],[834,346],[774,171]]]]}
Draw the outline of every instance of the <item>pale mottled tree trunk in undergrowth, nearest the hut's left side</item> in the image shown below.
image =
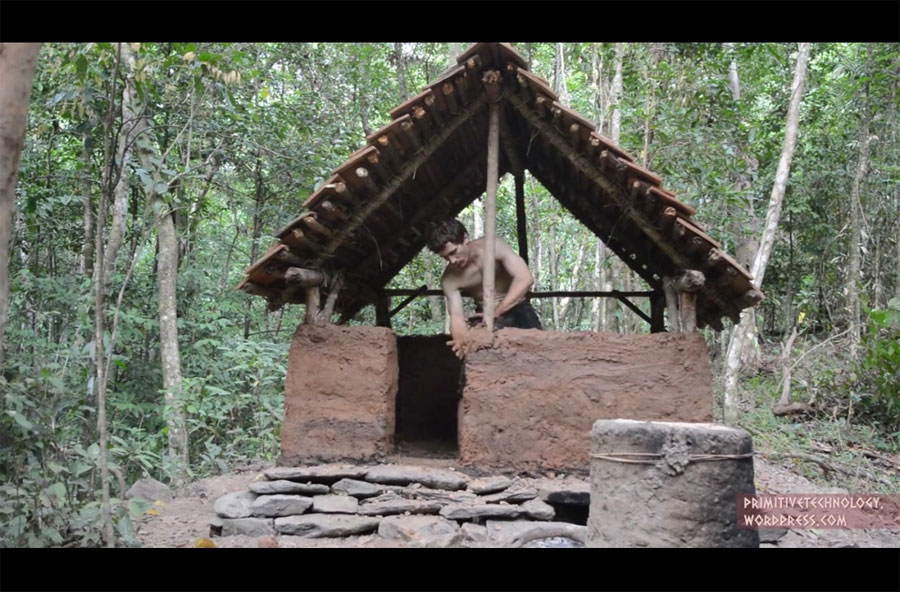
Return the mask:
{"type": "Polygon", "coordinates": [[[157,240],[159,242],[159,342],[162,359],[165,403],[171,416],[167,420],[169,456],[180,461],[177,473],[185,476],[188,466],[188,441],[181,409],[181,359],[178,352],[178,315],[176,308],[176,279],[178,277],[178,241],[175,238],[173,212],[160,199],[154,205],[159,217],[157,240]]]}

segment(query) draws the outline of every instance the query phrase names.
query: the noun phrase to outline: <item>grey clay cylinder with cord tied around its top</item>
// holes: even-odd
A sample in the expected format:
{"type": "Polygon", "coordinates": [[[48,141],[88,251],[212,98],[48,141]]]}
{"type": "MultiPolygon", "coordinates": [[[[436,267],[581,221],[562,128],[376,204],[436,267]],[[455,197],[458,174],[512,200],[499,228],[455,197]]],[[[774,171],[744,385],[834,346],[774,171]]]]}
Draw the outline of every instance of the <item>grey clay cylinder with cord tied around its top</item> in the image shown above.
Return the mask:
{"type": "Polygon", "coordinates": [[[588,547],[758,547],[738,528],[755,494],[753,442],[711,423],[598,420],[591,431],[588,547]]]}

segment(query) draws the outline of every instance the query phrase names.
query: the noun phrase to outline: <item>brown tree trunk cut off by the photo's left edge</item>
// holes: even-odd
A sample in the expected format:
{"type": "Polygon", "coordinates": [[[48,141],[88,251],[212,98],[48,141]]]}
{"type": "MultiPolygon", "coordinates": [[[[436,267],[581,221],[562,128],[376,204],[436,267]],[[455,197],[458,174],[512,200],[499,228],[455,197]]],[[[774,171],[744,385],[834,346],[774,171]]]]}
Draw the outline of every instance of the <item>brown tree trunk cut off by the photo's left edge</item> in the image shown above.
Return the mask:
{"type": "Polygon", "coordinates": [[[39,43],[0,43],[0,371],[9,311],[9,240],[39,43]]]}

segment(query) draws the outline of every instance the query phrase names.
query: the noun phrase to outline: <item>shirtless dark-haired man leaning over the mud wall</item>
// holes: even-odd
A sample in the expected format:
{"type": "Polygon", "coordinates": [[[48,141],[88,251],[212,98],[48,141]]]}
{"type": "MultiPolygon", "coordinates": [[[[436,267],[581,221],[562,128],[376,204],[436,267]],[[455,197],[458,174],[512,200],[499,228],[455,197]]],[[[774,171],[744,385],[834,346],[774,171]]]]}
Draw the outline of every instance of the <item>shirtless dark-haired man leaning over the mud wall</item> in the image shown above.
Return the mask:
{"type": "MultiPolygon", "coordinates": [[[[481,318],[482,275],[484,271],[485,239],[469,240],[469,233],[459,220],[445,220],[435,225],[428,239],[428,248],[449,263],[441,276],[441,288],[450,311],[450,336],[447,342],[453,353],[463,358],[467,353],[469,329],[463,312],[463,295],[475,299],[477,313],[470,321],[481,318]]],[[[525,296],[534,284],[528,264],[502,239],[494,249],[494,327],[542,329],[541,321],[525,296]]]]}

